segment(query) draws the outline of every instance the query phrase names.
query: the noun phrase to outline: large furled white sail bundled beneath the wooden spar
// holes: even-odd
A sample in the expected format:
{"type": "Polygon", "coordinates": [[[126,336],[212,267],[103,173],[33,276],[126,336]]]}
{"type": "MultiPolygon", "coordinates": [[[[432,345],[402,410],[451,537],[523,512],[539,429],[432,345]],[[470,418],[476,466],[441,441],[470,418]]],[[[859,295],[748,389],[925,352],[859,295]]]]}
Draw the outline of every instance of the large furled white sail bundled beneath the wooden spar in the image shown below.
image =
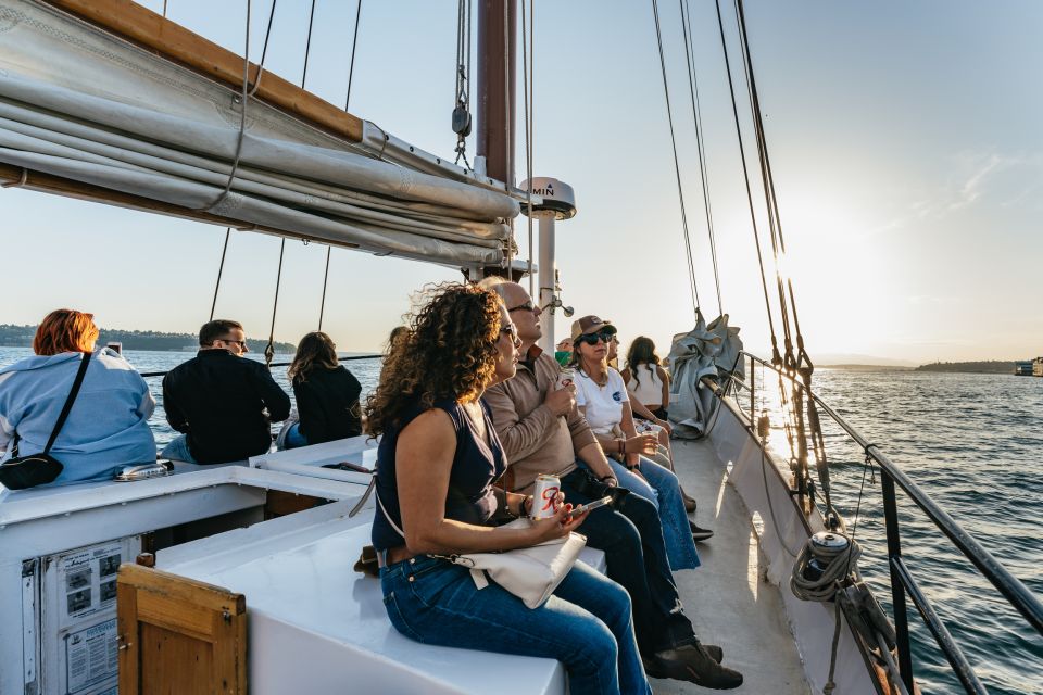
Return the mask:
{"type": "MultiPolygon", "coordinates": [[[[262,77],[263,79],[263,77],[262,77]]],[[[364,124],[329,135],[53,8],[0,0],[0,162],[235,226],[452,265],[497,265],[503,185],[364,124]]]]}

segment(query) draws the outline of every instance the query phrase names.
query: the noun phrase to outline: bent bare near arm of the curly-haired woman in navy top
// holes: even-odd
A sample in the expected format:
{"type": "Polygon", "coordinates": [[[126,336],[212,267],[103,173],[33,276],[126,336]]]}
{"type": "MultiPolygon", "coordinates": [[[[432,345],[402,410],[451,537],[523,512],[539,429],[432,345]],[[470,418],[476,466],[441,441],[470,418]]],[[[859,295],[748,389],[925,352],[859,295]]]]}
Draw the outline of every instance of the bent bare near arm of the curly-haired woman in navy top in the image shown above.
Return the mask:
{"type": "MultiPolygon", "coordinates": [[[[456,432],[449,415],[441,409],[424,413],[399,434],[395,476],[402,530],[410,551],[508,551],[561,538],[582,522],[580,517],[563,523],[570,508],[565,504],[554,517],[537,520],[528,529],[492,528],[447,519],[445,495],[455,453],[456,432]]],[[[508,504],[516,505],[517,497],[508,497],[508,504]]]]}

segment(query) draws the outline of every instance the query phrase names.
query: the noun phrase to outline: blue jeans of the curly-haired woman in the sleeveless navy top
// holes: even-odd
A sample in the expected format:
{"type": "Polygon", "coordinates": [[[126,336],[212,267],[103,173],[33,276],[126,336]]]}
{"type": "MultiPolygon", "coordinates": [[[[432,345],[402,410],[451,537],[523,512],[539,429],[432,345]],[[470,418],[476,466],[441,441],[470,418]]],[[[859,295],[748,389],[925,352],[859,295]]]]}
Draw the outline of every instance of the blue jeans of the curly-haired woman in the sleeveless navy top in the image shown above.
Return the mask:
{"type": "Polygon", "coordinates": [[[536,609],[494,582],[479,590],[466,568],[424,555],[381,569],[380,585],[391,624],[417,642],[557,659],[576,694],[652,693],[627,592],[582,563],[536,609]]]}

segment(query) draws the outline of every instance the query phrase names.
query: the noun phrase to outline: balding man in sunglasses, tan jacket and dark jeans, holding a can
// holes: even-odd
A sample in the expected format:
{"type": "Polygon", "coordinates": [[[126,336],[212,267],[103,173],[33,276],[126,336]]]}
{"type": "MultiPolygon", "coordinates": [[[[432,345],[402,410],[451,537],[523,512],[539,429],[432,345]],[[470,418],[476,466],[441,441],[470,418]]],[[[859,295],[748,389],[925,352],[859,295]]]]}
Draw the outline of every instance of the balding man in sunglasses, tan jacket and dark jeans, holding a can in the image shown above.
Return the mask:
{"type": "Polygon", "coordinates": [[[719,664],[720,647],[700,644],[684,615],[655,506],[639,495],[614,492],[616,478],[576,408],[575,387],[555,389],[561,367],[536,344],[542,311],[515,282],[488,278],[479,286],[500,295],[522,340],[515,376],[485,394],[508,460],[506,488],[530,493],[538,475],[554,473],[573,504],[613,496],[613,505],[590,513],[583,534],[590,547],[605,553],[608,577],[630,594],[649,675],[714,688],[739,686],[742,675],[719,664]]]}

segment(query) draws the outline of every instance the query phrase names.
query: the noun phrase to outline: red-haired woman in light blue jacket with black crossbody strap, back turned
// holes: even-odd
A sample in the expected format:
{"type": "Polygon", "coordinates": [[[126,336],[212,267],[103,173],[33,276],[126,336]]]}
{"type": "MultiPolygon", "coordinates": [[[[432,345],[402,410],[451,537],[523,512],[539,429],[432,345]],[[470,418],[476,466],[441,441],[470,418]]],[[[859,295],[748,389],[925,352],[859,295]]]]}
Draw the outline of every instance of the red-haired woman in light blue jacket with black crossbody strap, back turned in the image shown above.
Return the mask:
{"type": "Polygon", "coordinates": [[[95,350],[93,315],[60,308],[40,321],[33,352],[0,369],[0,462],[43,451],[84,353],[83,386],[50,454],[64,469],[52,484],[108,480],[128,464],[155,460],[149,416],[155,401],[118,353],[95,350]]]}

